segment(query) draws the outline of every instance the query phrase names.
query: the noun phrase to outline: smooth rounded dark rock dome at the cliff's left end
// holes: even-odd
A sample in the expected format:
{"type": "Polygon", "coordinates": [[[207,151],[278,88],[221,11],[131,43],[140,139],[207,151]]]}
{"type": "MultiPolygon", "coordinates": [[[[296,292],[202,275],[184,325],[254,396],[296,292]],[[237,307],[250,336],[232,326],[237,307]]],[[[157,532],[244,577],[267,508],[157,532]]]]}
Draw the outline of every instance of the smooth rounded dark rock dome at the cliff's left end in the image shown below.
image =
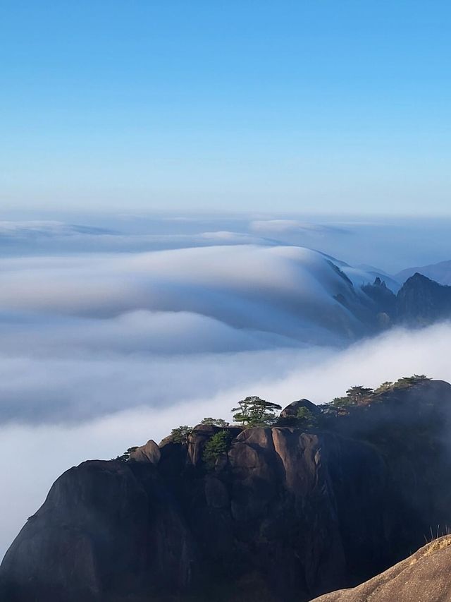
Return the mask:
{"type": "Polygon", "coordinates": [[[150,574],[189,583],[195,543],[175,500],[152,466],[133,469],[97,460],[58,478],[6,554],[0,599],[121,600],[150,574]]]}

